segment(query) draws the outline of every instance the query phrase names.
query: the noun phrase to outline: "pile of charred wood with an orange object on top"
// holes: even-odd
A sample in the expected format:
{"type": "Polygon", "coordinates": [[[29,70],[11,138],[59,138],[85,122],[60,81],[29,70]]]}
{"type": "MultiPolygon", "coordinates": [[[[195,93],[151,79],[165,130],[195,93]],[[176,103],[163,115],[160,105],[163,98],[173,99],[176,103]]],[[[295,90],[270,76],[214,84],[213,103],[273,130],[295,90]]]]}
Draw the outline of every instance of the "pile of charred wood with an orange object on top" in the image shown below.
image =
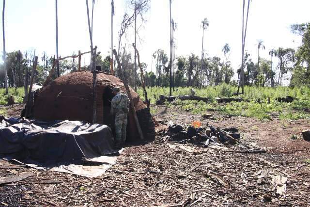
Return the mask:
{"type": "Polygon", "coordinates": [[[218,128],[207,124],[202,127],[198,121],[188,127],[170,123],[168,130],[163,130],[161,135],[164,142],[174,141],[177,143],[194,143],[208,147],[209,144],[217,146],[232,145],[239,141],[240,133],[238,128],[218,128]]]}

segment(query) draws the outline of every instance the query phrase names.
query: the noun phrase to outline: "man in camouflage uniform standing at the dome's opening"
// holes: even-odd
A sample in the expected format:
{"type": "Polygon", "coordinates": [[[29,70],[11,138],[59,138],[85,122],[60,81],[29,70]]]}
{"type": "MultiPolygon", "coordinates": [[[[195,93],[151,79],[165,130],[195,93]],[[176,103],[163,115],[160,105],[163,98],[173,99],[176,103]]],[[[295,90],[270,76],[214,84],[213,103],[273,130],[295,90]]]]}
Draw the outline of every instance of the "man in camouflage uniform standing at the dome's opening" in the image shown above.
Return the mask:
{"type": "Polygon", "coordinates": [[[122,147],[126,141],[127,114],[130,100],[121,94],[118,87],[113,88],[114,97],[111,102],[111,114],[115,115],[115,146],[122,147]]]}

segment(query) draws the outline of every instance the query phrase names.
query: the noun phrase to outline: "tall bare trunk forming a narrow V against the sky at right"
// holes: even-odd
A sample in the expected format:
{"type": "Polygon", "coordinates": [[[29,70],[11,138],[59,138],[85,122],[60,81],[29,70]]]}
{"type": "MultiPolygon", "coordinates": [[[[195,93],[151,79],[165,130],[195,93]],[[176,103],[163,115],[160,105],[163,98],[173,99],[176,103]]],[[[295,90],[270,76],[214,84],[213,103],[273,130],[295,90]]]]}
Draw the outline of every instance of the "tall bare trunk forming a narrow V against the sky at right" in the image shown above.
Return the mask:
{"type": "MultiPolygon", "coordinates": [[[[248,0],[248,9],[249,6],[250,6],[250,0],[248,0]]],[[[244,7],[245,7],[245,0],[243,0],[243,11],[242,11],[242,59],[241,59],[240,80],[238,84],[237,94],[239,94],[240,86],[242,87],[242,94],[244,94],[244,48],[248,28],[248,11],[247,11],[246,29],[244,30],[244,7]]]]}

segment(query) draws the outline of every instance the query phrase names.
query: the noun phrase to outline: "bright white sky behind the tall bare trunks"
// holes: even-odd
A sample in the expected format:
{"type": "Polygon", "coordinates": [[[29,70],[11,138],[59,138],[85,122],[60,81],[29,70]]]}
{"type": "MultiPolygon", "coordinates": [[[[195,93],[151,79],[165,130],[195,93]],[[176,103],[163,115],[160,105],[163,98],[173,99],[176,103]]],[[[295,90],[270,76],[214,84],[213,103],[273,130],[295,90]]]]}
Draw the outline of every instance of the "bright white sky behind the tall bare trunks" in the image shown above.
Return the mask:
{"type": "MultiPolygon", "coordinates": [[[[3,0],[0,0],[3,5],[3,0]]],[[[41,57],[43,51],[54,55],[56,47],[55,0],[6,0],[5,46],[6,51],[33,51],[41,57]]],[[[91,0],[89,0],[91,7],[91,0]]],[[[113,38],[117,49],[118,31],[127,12],[125,0],[114,0],[115,16],[113,38]]],[[[208,56],[223,58],[222,48],[231,47],[229,60],[236,71],[241,64],[242,0],[172,0],[172,18],[177,23],[175,31],[176,56],[194,53],[201,57],[202,19],[207,17],[209,28],[204,35],[204,50],[208,56]]],[[[268,58],[271,48],[297,48],[301,38],[290,31],[290,25],[310,21],[310,0],[251,0],[245,50],[257,62],[257,41],[262,39],[265,50],[262,58],[268,58]]],[[[91,8],[90,8],[91,9],[91,8]]],[[[90,50],[85,0],[58,0],[59,55],[62,57],[90,50]]],[[[151,0],[145,14],[147,22],[140,27],[137,48],[140,61],[152,67],[152,54],[164,49],[170,55],[169,0],[151,0]]],[[[1,18],[2,20],[2,18],[1,18]]],[[[93,44],[102,56],[109,55],[111,47],[111,1],[95,0],[93,17],[93,44]]],[[[140,22],[139,22],[140,23],[140,22]]],[[[140,24],[139,24],[140,25],[140,24]]],[[[2,32],[1,32],[2,39],[2,32]]],[[[0,51],[2,52],[3,43],[0,51]]],[[[123,45],[134,42],[133,28],[129,28],[123,45]]],[[[134,50],[131,47],[132,54],[134,50]]],[[[82,65],[89,64],[90,56],[82,57],[82,65]]],[[[274,58],[276,65],[277,60],[274,58]]]]}

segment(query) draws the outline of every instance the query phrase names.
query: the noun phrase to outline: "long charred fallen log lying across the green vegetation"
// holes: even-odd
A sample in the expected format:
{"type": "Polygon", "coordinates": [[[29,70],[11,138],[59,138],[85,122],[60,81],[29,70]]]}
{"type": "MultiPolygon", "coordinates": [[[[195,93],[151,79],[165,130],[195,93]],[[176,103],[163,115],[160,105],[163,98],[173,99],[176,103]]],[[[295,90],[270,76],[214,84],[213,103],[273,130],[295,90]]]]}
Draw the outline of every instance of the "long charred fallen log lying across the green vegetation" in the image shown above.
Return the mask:
{"type": "MultiPolygon", "coordinates": [[[[195,100],[195,101],[203,101],[203,102],[211,102],[211,98],[208,97],[201,97],[201,96],[159,96],[159,100],[156,101],[156,104],[160,105],[163,104],[166,100],[173,101],[175,99],[180,100],[195,100]]],[[[242,98],[215,98],[217,103],[229,103],[232,101],[242,101],[242,98]]]]}

